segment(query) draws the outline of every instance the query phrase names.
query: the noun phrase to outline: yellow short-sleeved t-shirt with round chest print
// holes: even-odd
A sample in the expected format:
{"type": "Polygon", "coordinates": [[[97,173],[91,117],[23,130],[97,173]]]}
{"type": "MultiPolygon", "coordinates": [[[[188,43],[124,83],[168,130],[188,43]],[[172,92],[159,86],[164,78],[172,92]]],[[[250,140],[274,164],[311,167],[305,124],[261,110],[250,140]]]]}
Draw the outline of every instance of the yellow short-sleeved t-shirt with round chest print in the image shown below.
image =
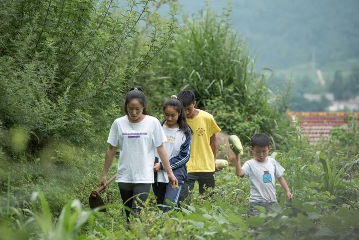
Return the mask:
{"type": "Polygon", "coordinates": [[[187,123],[193,131],[191,155],[187,163],[187,171],[214,172],[214,156],[210,137],[221,131],[221,128],[215,123],[213,116],[203,110],[200,110],[194,118],[187,118],[187,123]]]}

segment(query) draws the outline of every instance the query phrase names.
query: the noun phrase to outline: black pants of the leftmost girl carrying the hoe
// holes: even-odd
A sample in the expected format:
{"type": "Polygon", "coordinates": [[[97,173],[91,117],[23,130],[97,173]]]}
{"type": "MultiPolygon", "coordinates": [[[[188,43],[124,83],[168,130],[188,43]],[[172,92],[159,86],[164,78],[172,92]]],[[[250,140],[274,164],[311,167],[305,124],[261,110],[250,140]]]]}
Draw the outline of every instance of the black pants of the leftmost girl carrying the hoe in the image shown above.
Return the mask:
{"type": "Polygon", "coordinates": [[[118,183],[118,188],[123,205],[127,207],[125,212],[126,219],[129,221],[131,213],[134,215],[139,213],[139,207],[143,206],[142,202],[146,201],[151,184],[118,183]],[[137,197],[140,201],[137,201],[137,197]],[[131,209],[131,211],[129,209],[131,209]]]}

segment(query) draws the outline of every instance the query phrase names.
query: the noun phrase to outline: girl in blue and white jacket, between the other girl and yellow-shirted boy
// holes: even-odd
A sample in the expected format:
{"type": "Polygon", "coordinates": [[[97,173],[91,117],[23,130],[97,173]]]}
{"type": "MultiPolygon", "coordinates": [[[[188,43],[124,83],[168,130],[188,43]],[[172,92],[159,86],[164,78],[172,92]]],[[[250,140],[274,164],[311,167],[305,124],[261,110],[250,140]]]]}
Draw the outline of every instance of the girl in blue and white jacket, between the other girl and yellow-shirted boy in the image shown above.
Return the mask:
{"type": "MultiPolygon", "coordinates": [[[[157,204],[168,205],[166,199],[177,204],[182,185],[187,178],[186,163],[191,152],[192,131],[186,123],[183,105],[175,95],[171,96],[163,106],[165,121],[161,123],[167,137],[164,143],[169,156],[173,174],[178,179],[178,188],[172,188],[161,159],[156,155],[153,166],[155,183],[152,184],[157,204]]],[[[163,208],[168,211],[169,208],[163,208]]]]}

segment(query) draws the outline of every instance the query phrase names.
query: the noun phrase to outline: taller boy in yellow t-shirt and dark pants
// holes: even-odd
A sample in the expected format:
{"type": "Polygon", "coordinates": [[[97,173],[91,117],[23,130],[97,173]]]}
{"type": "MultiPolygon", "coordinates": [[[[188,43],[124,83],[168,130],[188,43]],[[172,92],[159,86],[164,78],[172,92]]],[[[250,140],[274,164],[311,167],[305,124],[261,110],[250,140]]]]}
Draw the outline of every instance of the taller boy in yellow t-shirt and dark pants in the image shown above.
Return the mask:
{"type": "Polygon", "coordinates": [[[198,181],[200,193],[207,188],[214,188],[215,158],[217,154],[216,133],[221,131],[215,123],[213,116],[203,110],[196,109],[194,92],[184,90],[178,93],[186,111],[186,121],[191,127],[192,144],[190,159],[187,163],[187,179],[179,194],[179,201],[183,201],[188,190],[192,191],[195,181],[198,181]]]}

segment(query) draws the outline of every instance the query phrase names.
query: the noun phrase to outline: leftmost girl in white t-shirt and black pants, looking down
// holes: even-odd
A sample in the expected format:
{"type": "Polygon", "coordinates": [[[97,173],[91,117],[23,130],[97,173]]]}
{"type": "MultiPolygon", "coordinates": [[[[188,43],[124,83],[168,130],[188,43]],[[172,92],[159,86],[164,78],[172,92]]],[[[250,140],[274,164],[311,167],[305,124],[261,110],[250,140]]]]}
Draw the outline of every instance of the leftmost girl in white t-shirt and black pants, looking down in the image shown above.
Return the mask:
{"type": "Polygon", "coordinates": [[[107,139],[104,169],[98,186],[106,187],[107,172],[112,164],[116,150],[119,149],[117,176],[119,192],[125,209],[127,221],[130,211],[139,213],[136,197],[145,202],[154,183],[153,164],[157,150],[167,171],[171,186],[177,187],[178,181],[169,164],[168,155],[163,145],[167,138],[158,119],[147,115],[146,96],[139,88],[131,89],[126,94],[123,117],[115,119],[107,139]]]}

